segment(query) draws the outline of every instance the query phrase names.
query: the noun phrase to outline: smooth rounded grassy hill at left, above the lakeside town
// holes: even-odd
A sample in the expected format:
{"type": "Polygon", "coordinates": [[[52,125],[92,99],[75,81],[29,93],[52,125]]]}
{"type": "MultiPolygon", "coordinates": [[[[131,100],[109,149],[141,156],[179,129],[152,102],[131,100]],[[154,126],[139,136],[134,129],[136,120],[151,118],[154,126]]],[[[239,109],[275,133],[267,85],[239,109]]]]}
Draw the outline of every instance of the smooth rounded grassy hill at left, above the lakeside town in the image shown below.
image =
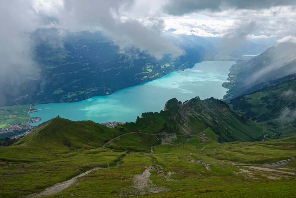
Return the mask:
{"type": "Polygon", "coordinates": [[[70,121],[56,117],[39,126],[11,147],[4,147],[4,161],[22,159],[26,162],[47,161],[81,148],[102,147],[120,131],[93,121],[70,121]],[[26,156],[30,152],[32,155],[26,156]]]}

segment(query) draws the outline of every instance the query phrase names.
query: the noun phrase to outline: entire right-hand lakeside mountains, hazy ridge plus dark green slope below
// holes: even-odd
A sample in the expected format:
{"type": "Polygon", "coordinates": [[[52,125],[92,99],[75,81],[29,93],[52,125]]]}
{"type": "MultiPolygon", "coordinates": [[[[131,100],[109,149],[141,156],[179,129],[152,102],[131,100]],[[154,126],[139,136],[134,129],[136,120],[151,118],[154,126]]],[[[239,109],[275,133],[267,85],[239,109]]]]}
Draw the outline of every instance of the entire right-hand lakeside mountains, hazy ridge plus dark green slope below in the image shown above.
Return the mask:
{"type": "Polygon", "coordinates": [[[247,62],[232,65],[224,96],[230,107],[274,134],[268,139],[296,134],[296,44],[281,43],[247,62]]]}

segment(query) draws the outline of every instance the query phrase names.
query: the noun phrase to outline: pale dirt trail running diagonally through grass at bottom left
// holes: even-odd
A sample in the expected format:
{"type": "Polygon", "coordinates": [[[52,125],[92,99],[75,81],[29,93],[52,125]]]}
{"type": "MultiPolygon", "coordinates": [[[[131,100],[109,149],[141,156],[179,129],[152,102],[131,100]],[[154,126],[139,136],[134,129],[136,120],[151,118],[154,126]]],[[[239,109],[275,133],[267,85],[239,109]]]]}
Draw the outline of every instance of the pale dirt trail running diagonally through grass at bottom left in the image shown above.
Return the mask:
{"type": "Polygon", "coordinates": [[[101,167],[96,167],[96,168],[93,168],[91,170],[88,170],[84,173],[81,173],[80,175],[77,175],[75,176],[74,178],[70,179],[70,180],[67,180],[67,181],[64,181],[62,183],[57,183],[57,184],[54,184],[53,186],[49,187],[48,189],[45,189],[44,191],[36,194],[30,194],[29,196],[27,196],[27,198],[32,198],[32,197],[43,197],[43,196],[46,196],[46,195],[52,195],[52,194],[56,194],[66,188],[68,188],[69,186],[73,186],[75,184],[77,184],[77,179],[76,178],[79,178],[79,177],[82,177],[88,173],[90,173],[91,171],[93,170],[101,170],[103,168],[101,167]]]}

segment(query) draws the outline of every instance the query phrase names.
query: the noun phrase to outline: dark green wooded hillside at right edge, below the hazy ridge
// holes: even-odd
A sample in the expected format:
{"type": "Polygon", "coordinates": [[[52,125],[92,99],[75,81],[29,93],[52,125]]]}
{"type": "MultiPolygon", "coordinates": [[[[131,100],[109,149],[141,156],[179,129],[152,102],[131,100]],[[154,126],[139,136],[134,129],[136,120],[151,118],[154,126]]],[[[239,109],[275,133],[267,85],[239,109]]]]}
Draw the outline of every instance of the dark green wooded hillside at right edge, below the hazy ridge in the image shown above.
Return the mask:
{"type": "Polygon", "coordinates": [[[253,121],[271,129],[268,140],[296,134],[296,80],[274,83],[252,94],[239,96],[229,101],[229,106],[253,121]]]}

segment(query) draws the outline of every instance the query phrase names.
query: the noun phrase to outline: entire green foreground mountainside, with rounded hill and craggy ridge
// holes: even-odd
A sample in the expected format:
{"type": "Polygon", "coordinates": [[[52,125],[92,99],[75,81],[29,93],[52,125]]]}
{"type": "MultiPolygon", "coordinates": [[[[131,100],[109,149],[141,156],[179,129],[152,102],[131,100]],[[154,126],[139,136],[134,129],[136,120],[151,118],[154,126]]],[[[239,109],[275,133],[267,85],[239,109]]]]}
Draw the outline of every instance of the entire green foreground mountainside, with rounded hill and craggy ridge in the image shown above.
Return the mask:
{"type": "Polygon", "coordinates": [[[0,196],[293,197],[296,136],[218,142],[230,133],[255,139],[263,129],[198,97],[171,99],[115,129],[57,116],[0,147],[0,196]]]}

